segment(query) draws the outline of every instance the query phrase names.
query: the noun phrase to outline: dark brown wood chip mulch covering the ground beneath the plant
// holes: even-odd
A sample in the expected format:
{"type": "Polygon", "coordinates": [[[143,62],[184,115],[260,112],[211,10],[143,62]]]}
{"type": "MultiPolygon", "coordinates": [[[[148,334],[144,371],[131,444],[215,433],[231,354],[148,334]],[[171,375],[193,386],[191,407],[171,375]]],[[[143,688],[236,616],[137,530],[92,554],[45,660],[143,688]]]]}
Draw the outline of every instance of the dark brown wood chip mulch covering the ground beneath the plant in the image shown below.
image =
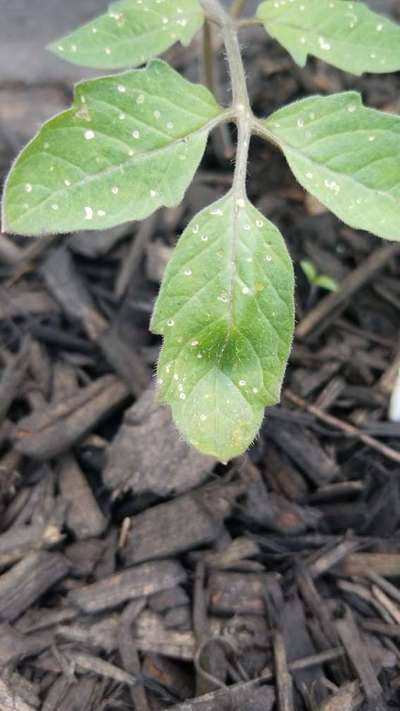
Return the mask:
{"type": "MultiPolygon", "coordinates": [[[[250,47],[260,113],[350,87],[398,110],[398,76],[250,47]]],[[[230,184],[220,144],[141,226],[0,237],[2,710],[400,708],[399,248],[254,142],[250,197],[297,265],[282,404],[221,466],[154,401],[152,304],[176,235],[230,184]],[[310,289],[305,257],[338,293],[310,289]]]]}

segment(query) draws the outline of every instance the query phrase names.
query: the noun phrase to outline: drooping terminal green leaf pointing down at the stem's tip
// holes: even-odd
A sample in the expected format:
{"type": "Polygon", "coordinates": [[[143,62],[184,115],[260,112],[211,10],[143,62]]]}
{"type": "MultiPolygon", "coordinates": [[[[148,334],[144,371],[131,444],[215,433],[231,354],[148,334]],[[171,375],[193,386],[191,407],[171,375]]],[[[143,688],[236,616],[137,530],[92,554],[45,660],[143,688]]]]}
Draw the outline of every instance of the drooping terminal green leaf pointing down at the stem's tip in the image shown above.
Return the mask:
{"type": "Polygon", "coordinates": [[[197,449],[241,454],[279,400],[294,278],[279,231],[232,191],[203,210],[168,265],[151,328],[164,337],[160,399],[197,449]]]}

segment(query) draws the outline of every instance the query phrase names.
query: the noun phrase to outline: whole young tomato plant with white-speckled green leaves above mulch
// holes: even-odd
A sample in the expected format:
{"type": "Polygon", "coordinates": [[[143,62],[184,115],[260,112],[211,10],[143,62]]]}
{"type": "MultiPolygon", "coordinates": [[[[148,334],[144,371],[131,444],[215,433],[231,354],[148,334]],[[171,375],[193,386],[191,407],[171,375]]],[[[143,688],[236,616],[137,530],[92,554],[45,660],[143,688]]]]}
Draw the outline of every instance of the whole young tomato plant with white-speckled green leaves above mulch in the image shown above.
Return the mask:
{"type": "Polygon", "coordinates": [[[160,400],[193,446],[223,461],[249,446],[278,402],[293,335],[291,260],[246,194],[252,135],[275,144],[298,182],[348,225],[400,239],[400,118],[352,91],[256,117],[238,41],[241,27],[259,23],[301,66],[311,55],[353,74],[389,72],[400,69],[400,28],[362,2],[266,0],[256,18],[239,20],[243,4],[229,14],[218,0],[120,0],[51,45],[77,64],[131,69],[77,85],[71,109],[17,158],[3,201],[3,229],[22,235],[141,220],[182,200],[210,131],[236,124],[232,188],[180,237],[151,322],[163,336],[160,400]],[[222,34],[228,108],[152,59],[189,44],[205,19],[222,34]]]}

